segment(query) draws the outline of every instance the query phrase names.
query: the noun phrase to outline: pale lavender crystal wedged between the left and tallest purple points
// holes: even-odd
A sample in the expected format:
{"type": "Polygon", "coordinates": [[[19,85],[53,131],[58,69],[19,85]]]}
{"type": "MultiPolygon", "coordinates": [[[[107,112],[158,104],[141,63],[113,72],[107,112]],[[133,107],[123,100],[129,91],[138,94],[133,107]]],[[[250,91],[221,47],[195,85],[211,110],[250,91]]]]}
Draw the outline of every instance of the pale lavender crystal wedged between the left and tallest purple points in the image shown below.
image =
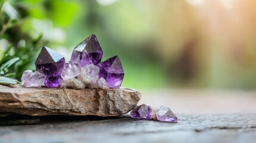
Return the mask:
{"type": "Polygon", "coordinates": [[[65,63],[63,71],[61,73],[61,77],[63,80],[72,79],[80,74],[81,67],[79,64],[75,64],[73,62],[65,63]]]}

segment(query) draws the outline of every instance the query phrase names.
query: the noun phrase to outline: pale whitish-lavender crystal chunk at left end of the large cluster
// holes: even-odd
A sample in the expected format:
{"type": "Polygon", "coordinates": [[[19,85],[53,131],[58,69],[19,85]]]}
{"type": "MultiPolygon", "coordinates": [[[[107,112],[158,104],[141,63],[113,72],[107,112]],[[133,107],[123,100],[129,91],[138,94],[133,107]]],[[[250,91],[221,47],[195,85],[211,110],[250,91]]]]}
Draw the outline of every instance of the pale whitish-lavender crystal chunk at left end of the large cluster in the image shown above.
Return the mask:
{"type": "Polygon", "coordinates": [[[44,85],[46,76],[39,71],[25,70],[21,77],[21,85],[25,87],[39,88],[44,85]]]}

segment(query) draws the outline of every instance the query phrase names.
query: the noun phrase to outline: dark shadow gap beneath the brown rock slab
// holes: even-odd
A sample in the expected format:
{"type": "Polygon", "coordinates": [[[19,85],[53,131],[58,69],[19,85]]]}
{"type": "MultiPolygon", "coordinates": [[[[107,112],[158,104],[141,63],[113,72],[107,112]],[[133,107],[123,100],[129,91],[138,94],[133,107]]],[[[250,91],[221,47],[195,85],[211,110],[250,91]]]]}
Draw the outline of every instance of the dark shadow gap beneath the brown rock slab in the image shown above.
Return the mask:
{"type": "Polygon", "coordinates": [[[33,125],[41,123],[70,123],[84,122],[91,120],[113,120],[129,118],[128,114],[116,117],[95,117],[95,116],[27,116],[14,113],[0,113],[0,126],[10,125],[33,125]]]}

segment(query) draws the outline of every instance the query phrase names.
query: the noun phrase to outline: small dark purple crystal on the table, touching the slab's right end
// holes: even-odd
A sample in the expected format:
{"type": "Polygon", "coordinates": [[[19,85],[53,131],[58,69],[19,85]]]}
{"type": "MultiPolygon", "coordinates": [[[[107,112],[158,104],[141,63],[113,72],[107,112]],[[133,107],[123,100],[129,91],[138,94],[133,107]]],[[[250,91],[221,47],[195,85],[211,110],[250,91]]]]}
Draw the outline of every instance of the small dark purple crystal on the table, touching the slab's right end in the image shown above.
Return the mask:
{"type": "Polygon", "coordinates": [[[146,104],[138,105],[131,111],[131,117],[135,119],[150,119],[152,108],[146,104]]]}

